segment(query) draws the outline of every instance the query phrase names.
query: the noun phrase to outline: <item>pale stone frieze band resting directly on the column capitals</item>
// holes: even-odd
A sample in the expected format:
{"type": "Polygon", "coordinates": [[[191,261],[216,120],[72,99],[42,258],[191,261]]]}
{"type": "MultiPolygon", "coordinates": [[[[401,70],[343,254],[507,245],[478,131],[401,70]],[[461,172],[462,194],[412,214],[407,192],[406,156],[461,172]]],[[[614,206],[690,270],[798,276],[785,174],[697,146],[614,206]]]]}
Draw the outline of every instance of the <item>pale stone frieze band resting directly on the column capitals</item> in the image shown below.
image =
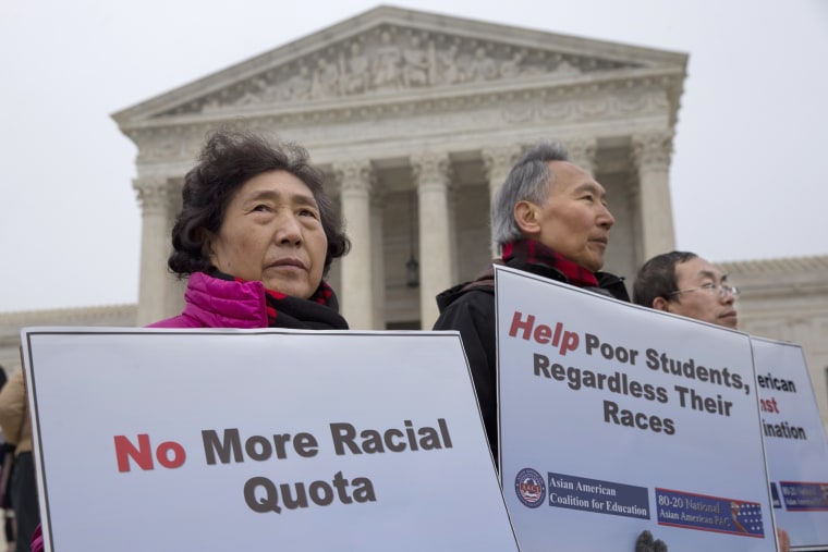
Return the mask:
{"type": "Polygon", "coordinates": [[[337,108],[329,112],[300,113],[233,112],[226,121],[193,119],[162,127],[129,131],[137,144],[139,175],[160,173],[183,175],[192,167],[205,135],[223,123],[244,119],[251,127],[277,132],[284,139],[306,146],[318,163],[339,156],[358,155],[366,158],[404,157],[426,145],[451,145],[454,149],[479,149],[486,144],[514,142],[516,136],[581,136],[584,128],[597,138],[618,138],[637,132],[665,132],[669,128],[670,109],[662,93],[636,87],[624,88],[618,95],[583,96],[553,95],[543,91],[533,95],[509,93],[498,97],[424,99],[421,106],[401,102],[393,106],[373,106],[358,113],[337,108]],[[456,105],[454,105],[456,103],[456,105]],[[337,119],[337,114],[346,115],[337,119]],[[533,133],[532,128],[535,128],[533,133]],[[464,144],[464,142],[466,144],[464,144]],[[346,144],[344,151],[343,144],[346,144]]]}

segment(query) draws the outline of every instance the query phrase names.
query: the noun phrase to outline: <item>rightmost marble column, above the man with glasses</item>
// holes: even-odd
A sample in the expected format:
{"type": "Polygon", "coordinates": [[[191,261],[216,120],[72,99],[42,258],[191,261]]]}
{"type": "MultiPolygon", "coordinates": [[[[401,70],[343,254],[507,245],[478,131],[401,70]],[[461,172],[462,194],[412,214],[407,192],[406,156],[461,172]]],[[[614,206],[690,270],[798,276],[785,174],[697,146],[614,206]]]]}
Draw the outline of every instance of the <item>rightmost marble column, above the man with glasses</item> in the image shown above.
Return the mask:
{"type": "Polygon", "coordinates": [[[633,136],[633,161],[638,169],[638,219],[641,255],[638,265],[650,257],[673,250],[672,203],[670,201],[670,155],[672,134],[655,132],[633,136]]]}

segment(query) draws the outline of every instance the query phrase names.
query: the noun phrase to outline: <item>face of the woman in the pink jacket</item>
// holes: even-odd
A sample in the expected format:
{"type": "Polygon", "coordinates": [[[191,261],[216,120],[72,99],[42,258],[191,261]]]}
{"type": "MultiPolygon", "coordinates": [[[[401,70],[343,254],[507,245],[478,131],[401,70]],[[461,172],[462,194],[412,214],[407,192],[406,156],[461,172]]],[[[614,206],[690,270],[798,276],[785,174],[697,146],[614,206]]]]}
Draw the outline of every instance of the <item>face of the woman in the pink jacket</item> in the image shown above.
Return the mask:
{"type": "Polygon", "coordinates": [[[220,271],[308,298],[322,279],[328,238],[307,185],[287,171],[245,182],[228,205],[205,254],[220,271]]]}

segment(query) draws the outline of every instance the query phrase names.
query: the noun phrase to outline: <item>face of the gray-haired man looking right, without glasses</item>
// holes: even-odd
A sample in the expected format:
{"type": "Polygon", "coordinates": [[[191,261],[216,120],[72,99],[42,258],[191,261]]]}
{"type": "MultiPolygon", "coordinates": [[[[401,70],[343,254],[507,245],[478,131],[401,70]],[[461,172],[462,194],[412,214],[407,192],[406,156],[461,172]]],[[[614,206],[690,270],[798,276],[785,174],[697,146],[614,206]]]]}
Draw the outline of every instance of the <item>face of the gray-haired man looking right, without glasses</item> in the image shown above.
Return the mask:
{"type": "Polygon", "coordinates": [[[570,162],[551,161],[549,170],[555,183],[546,204],[538,206],[539,231],[532,237],[595,272],[604,266],[609,229],[616,223],[607,209],[607,192],[570,162]]]}

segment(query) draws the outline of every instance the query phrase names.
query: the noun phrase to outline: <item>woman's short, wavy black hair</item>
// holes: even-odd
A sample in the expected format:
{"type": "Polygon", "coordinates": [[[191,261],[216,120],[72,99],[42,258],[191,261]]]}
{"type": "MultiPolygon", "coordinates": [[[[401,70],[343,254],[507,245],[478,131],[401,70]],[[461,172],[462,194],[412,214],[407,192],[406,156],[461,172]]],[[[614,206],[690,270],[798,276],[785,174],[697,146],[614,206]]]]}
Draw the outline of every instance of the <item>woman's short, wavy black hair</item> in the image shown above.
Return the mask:
{"type": "Polygon", "coordinates": [[[271,144],[251,131],[220,130],[209,135],[198,163],[184,177],[181,212],[172,228],[172,253],[167,261],[179,278],[212,267],[204,255],[205,232],[219,231],[228,205],[248,180],[269,171],[287,171],[305,183],[319,206],[328,238],[327,275],[333,259],[351,248],[342,218],[324,189],[324,173],[310,164],[307,150],[297,144],[271,144]]]}

